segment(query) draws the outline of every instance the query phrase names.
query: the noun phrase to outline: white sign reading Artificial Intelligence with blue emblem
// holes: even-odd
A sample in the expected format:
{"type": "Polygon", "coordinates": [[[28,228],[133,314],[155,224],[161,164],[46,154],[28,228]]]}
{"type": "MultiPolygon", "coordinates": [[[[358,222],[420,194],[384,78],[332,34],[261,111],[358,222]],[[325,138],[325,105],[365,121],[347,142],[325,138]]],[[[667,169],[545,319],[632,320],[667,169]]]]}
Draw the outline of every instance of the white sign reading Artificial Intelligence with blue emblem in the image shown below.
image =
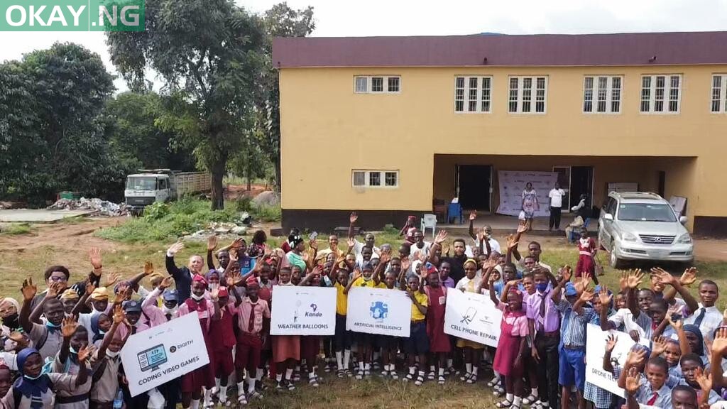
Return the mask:
{"type": "Polygon", "coordinates": [[[401,290],[351,287],[346,329],[357,333],[409,337],[411,300],[401,290]]]}

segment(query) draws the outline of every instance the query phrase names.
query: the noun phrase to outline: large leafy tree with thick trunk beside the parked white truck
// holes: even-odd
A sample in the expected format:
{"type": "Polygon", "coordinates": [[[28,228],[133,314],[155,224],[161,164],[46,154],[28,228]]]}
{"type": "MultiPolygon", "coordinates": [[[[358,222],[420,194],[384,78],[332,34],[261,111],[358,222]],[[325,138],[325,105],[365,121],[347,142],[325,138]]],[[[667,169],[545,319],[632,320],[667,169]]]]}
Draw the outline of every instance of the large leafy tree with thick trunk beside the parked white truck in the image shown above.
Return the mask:
{"type": "Polygon", "coordinates": [[[252,127],[262,21],[230,0],[147,0],[145,23],[142,32],[107,33],[111,60],[132,89],[146,68],[161,74],[157,123],[212,172],[212,209],[222,209],[228,158],[252,127]]]}

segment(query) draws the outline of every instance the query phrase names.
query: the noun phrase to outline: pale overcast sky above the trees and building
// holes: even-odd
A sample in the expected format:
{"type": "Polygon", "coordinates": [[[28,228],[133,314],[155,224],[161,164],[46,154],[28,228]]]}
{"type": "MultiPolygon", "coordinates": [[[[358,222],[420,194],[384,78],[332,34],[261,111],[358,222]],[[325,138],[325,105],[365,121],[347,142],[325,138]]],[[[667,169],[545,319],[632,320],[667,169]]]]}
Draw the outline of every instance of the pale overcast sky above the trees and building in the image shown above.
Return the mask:
{"type": "MultiPolygon", "coordinates": [[[[236,0],[261,13],[280,1],[236,0]]],[[[313,6],[313,36],[443,36],[474,33],[624,33],[727,30],[727,0],[289,0],[313,6]]],[[[100,32],[0,33],[0,61],[17,60],[55,41],[70,41],[97,52],[112,74],[105,36],[100,32]]],[[[150,74],[153,76],[154,74],[150,74]]],[[[154,80],[154,78],[150,78],[154,80]]],[[[119,91],[126,84],[116,79],[119,91]]]]}

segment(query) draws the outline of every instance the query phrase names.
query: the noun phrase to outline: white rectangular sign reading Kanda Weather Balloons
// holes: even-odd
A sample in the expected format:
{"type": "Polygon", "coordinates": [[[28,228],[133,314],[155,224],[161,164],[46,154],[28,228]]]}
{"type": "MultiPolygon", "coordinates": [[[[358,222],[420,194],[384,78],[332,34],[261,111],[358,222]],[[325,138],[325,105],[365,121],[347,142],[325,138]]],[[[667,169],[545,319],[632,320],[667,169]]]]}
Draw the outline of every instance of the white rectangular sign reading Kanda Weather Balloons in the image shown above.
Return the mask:
{"type": "Polygon", "coordinates": [[[273,286],[270,335],[334,335],[336,289],[273,286]]]}

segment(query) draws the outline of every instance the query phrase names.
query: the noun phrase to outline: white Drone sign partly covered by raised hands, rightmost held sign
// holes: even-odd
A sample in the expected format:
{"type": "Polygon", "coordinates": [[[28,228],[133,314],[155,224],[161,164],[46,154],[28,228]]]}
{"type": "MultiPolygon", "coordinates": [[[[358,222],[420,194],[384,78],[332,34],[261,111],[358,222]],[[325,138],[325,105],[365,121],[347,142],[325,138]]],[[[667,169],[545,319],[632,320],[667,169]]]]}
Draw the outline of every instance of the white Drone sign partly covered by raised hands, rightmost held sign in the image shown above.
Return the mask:
{"type": "Polygon", "coordinates": [[[611,362],[618,362],[621,368],[624,367],[626,357],[635,344],[627,333],[602,331],[598,325],[588,324],[586,329],[586,382],[624,397],[624,390],[617,384],[618,379],[603,370],[603,355],[606,353],[606,338],[609,333],[616,337],[616,346],[611,352],[611,362]]]}

